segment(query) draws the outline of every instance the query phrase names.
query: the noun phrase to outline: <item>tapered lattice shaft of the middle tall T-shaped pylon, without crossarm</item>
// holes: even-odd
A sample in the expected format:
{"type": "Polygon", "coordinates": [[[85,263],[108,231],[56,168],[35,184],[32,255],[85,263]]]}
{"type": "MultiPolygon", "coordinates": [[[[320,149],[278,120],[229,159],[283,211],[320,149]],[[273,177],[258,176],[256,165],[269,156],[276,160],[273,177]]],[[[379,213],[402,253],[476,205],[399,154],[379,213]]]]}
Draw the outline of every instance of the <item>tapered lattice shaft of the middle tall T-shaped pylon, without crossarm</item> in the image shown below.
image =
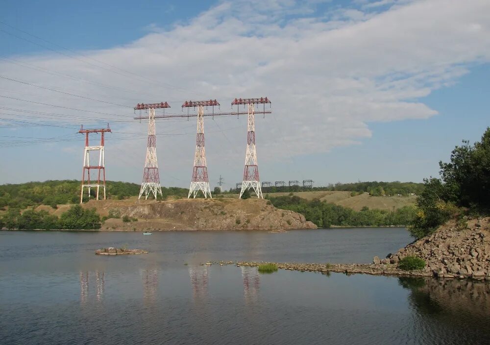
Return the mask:
{"type": "Polygon", "coordinates": [[[204,107],[202,105],[197,107],[196,154],[194,156],[191,187],[187,198],[190,198],[191,195],[195,198],[199,191],[202,191],[205,198],[208,196],[212,198],[204,149],[204,107]]]}

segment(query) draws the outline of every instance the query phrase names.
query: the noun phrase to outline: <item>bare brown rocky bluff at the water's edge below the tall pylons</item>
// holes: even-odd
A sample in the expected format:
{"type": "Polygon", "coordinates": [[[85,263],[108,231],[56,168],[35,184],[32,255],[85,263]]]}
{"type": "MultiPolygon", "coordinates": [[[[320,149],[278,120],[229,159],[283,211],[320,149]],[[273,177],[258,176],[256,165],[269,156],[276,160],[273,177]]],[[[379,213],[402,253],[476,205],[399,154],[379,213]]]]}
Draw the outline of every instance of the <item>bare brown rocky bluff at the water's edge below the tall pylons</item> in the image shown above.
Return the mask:
{"type": "Polygon", "coordinates": [[[312,229],[303,215],[280,210],[264,199],[178,199],[169,201],[100,200],[84,207],[96,207],[101,216],[119,211],[121,216],[137,218],[124,223],[109,219],[102,229],[155,230],[276,230],[312,229]]]}

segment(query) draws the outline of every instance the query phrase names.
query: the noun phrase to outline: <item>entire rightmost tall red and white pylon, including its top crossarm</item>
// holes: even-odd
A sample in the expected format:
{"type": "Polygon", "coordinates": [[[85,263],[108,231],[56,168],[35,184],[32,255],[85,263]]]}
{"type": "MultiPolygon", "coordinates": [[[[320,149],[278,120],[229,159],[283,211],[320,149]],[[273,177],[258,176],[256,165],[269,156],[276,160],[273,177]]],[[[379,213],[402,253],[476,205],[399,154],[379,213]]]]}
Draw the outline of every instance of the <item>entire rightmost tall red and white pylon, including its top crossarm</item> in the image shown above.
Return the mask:
{"type": "Polygon", "coordinates": [[[244,178],[242,182],[242,190],[240,191],[240,197],[244,192],[252,188],[259,198],[262,196],[262,189],[259,178],[259,167],[257,165],[257,150],[255,148],[255,114],[254,104],[270,103],[270,100],[266,98],[249,98],[249,99],[235,99],[231,105],[243,104],[248,107],[248,121],[247,121],[247,144],[245,153],[245,168],[244,178]]]}

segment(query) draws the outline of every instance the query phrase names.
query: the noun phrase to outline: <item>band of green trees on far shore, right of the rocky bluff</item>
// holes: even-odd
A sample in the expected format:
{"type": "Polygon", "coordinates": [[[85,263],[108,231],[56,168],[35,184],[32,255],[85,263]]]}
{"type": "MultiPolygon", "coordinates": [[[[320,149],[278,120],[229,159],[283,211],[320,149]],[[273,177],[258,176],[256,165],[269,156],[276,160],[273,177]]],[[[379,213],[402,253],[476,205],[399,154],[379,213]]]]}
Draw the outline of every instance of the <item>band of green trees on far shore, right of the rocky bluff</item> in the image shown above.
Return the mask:
{"type": "Polygon", "coordinates": [[[365,207],[356,212],[319,199],[309,201],[298,196],[271,197],[270,201],[277,208],[303,214],[307,221],[314,222],[318,227],[407,225],[415,214],[413,206],[395,211],[371,210],[365,207]]]}

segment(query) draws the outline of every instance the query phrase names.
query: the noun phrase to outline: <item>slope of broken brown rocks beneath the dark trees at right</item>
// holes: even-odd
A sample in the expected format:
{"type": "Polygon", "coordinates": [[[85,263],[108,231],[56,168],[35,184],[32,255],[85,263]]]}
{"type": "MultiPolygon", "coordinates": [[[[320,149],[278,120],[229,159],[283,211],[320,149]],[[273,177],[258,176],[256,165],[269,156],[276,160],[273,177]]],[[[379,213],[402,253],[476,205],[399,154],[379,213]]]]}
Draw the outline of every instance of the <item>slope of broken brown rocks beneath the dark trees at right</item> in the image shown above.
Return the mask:
{"type": "Polygon", "coordinates": [[[490,218],[469,219],[467,225],[455,221],[442,225],[435,233],[388,254],[373,264],[380,267],[396,265],[407,256],[426,262],[423,272],[444,278],[490,280],[490,218]]]}

